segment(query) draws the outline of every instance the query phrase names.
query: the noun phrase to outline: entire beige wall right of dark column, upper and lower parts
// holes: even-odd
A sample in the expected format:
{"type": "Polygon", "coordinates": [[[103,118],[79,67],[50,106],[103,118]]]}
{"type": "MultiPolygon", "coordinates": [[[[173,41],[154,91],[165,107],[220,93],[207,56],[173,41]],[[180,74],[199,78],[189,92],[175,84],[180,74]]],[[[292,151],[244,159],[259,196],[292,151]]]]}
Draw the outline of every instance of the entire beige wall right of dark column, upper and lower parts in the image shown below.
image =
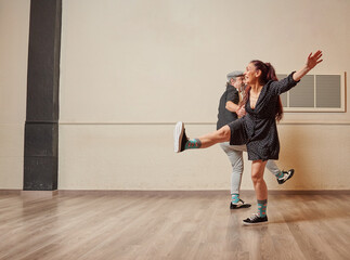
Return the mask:
{"type": "MultiPolygon", "coordinates": [[[[350,72],[347,0],[63,3],[62,190],[229,190],[219,146],[172,152],[176,121],[212,131],[225,74],[252,58],[282,74],[321,49],[314,73],[350,72]]],[[[278,165],[297,170],[283,188],[349,188],[349,113],[288,113],[278,129],[278,165]]]]}

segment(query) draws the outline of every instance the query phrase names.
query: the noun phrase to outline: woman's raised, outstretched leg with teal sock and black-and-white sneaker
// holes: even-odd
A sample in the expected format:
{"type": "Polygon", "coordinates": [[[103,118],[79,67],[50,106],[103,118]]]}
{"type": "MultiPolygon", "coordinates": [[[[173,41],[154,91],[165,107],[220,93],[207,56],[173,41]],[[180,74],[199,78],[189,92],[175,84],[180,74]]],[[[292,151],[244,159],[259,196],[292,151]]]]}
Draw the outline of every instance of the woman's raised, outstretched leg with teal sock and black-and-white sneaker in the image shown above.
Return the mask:
{"type": "Polygon", "coordinates": [[[190,148],[207,148],[213,144],[229,142],[231,138],[231,130],[229,126],[224,126],[218,131],[205,134],[198,139],[191,139],[186,136],[183,122],[178,122],[173,131],[174,152],[180,153],[190,148]]]}

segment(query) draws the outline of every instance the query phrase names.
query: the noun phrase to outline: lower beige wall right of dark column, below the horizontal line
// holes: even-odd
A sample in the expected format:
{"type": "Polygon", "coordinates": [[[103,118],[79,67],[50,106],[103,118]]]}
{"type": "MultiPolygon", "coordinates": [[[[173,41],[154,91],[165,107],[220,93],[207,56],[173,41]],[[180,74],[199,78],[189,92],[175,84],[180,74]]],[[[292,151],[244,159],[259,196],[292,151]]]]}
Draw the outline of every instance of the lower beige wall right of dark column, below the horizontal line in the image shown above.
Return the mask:
{"type": "MultiPolygon", "coordinates": [[[[61,126],[61,190],[229,190],[230,162],[217,145],[174,154],[171,125],[61,126]]],[[[198,135],[212,125],[190,125],[198,135]]],[[[348,190],[349,126],[281,125],[281,168],[296,176],[285,185],[265,172],[269,188],[348,190]],[[341,143],[340,141],[341,140],[341,143]]],[[[242,188],[251,190],[246,160],[242,188]]]]}

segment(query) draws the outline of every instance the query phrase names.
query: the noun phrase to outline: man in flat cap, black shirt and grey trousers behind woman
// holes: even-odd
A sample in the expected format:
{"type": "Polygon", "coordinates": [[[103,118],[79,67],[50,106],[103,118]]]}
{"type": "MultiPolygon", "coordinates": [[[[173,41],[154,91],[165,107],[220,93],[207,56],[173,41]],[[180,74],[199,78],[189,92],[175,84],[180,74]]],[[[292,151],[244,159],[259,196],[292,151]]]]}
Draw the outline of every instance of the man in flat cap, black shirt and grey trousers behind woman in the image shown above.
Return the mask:
{"type": "MultiPolygon", "coordinates": [[[[244,89],[243,72],[235,70],[228,74],[226,78],[226,90],[223,92],[219,102],[217,130],[238,118],[239,92],[244,89]]],[[[239,198],[239,187],[244,169],[243,152],[247,152],[247,146],[230,145],[230,142],[220,143],[220,146],[226,153],[232,165],[230,208],[249,208],[251,205],[244,203],[239,198]]],[[[278,184],[283,184],[294,174],[294,169],[281,171],[273,160],[268,161],[267,168],[276,177],[278,184]]]]}

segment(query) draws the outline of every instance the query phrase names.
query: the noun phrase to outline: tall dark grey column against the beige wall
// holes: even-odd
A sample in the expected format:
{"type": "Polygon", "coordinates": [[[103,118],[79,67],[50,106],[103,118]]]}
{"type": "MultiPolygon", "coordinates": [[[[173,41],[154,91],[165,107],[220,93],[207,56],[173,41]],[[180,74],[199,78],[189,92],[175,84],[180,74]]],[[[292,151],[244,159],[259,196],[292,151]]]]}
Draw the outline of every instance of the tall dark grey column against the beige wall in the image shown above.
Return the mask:
{"type": "Polygon", "coordinates": [[[25,191],[57,190],[62,0],[31,0],[24,148],[25,191]]]}

